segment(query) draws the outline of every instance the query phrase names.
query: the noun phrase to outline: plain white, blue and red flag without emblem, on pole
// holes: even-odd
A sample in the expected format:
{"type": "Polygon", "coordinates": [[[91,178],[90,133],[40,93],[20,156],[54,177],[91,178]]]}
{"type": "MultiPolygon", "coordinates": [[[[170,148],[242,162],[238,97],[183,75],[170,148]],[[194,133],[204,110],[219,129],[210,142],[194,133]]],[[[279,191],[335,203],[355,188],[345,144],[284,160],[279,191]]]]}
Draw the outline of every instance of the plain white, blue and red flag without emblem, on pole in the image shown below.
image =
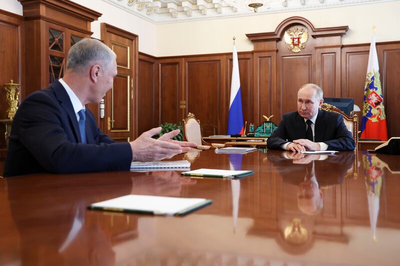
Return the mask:
{"type": "Polygon", "coordinates": [[[236,46],[233,44],[233,68],[232,81],[230,83],[230,102],[228,115],[228,135],[244,134],[243,127],[243,112],[241,110],[241,92],[240,92],[240,77],[239,63],[237,61],[236,46]]]}

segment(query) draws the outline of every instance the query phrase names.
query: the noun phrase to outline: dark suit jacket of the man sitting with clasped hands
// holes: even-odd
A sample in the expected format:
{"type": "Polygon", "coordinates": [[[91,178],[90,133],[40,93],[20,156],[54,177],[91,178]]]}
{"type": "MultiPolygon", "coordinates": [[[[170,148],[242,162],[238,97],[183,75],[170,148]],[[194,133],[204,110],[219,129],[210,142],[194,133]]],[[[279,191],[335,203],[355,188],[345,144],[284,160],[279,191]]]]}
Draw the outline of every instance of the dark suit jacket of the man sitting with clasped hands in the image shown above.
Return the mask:
{"type": "MultiPolygon", "coordinates": [[[[284,114],[276,131],[267,139],[268,149],[280,150],[280,145],[296,139],[306,139],[305,122],[297,111],[284,114]]],[[[314,142],[324,142],[328,150],[352,151],[355,143],[343,122],[334,112],[318,110],[314,127],[314,142]]]]}

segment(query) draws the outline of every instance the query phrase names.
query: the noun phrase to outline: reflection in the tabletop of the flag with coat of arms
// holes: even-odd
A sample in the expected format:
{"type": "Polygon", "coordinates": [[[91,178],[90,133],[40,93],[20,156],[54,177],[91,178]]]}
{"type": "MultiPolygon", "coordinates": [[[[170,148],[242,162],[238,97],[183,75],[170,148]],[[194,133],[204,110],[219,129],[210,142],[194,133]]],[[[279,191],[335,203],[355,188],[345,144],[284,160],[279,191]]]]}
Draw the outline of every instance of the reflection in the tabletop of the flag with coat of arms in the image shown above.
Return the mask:
{"type": "Polygon", "coordinates": [[[384,165],[374,155],[363,153],[362,157],[365,171],[369,222],[371,224],[373,240],[376,241],[376,221],[379,213],[379,195],[382,186],[384,165]]]}

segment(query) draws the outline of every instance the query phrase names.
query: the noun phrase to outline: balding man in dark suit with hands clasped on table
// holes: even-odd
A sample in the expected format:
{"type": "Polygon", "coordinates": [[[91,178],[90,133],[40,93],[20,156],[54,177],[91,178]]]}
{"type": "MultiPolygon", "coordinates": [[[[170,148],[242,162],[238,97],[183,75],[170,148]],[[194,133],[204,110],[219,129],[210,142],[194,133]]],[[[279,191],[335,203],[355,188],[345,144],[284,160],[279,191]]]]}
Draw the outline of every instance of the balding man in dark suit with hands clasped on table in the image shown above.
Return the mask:
{"type": "Polygon", "coordinates": [[[340,114],[319,110],[322,89],[305,84],[297,92],[297,111],[284,114],[276,131],[267,139],[268,149],[354,150],[355,143],[340,114]]]}

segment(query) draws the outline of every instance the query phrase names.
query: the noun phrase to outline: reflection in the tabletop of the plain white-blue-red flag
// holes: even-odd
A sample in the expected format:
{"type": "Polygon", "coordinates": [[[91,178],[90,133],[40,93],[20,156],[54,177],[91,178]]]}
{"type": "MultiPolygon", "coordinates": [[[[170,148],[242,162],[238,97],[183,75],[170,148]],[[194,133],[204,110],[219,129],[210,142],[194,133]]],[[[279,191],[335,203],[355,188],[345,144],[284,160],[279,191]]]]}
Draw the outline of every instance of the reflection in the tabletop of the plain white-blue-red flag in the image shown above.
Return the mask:
{"type": "MultiPolygon", "coordinates": [[[[241,160],[243,154],[229,154],[230,170],[240,171],[241,160]]],[[[232,179],[230,181],[232,189],[232,217],[233,217],[233,230],[237,226],[237,216],[239,213],[239,198],[240,198],[240,180],[232,179]]]]}

